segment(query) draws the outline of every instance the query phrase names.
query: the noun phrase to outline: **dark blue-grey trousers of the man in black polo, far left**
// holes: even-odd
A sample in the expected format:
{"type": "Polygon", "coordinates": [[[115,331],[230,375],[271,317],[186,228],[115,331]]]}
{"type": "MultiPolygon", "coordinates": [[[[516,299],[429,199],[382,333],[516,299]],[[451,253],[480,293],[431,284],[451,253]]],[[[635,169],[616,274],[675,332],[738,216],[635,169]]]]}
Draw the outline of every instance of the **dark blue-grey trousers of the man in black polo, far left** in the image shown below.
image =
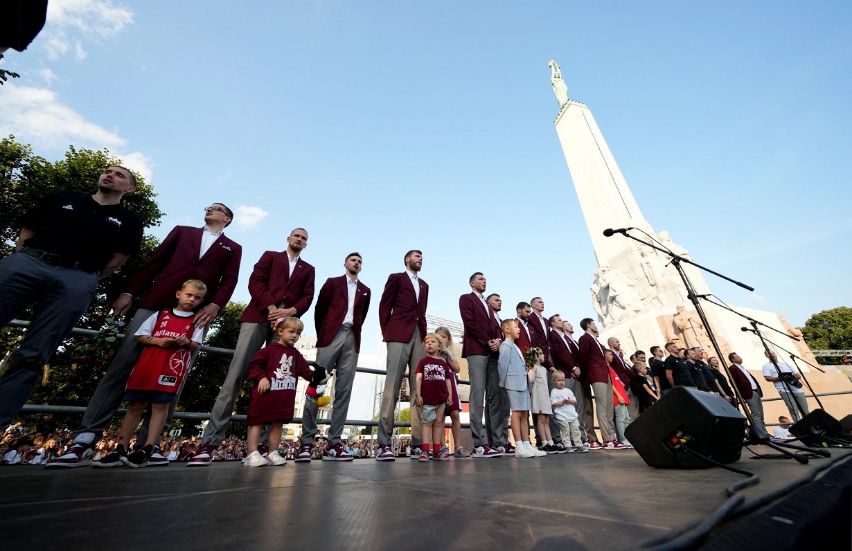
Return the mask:
{"type": "Polygon", "coordinates": [[[32,304],[30,327],[0,379],[0,423],[18,415],[50,354],[89,307],[97,284],[95,272],[52,266],[20,252],[0,261],[0,326],[32,304]]]}

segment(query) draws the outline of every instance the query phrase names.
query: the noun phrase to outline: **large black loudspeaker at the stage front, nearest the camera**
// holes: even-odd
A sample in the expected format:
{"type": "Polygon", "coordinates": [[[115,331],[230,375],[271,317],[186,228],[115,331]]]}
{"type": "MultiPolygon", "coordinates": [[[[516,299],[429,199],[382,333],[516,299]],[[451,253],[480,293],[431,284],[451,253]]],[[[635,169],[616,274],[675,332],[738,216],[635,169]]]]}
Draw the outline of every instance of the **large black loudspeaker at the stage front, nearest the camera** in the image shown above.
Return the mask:
{"type": "Polygon", "coordinates": [[[650,467],[713,467],[686,450],[720,463],[740,460],[746,417],[718,394],[674,387],[625,429],[650,467]]]}

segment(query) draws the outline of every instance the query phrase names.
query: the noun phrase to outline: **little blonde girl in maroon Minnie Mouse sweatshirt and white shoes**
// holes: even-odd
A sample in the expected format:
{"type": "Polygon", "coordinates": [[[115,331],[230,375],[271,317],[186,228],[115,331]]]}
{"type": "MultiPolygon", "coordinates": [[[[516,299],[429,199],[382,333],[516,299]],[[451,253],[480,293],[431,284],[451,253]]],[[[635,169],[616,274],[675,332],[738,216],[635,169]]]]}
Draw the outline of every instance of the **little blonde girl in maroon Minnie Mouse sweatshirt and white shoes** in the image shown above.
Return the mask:
{"type": "Polygon", "coordinates": [[[281,429],[293,420],[296,405],[296,377],[308,381],[314,376],[314,370],[293,347],[302,336],[304,324],[298,318],[285,318],[275,326],[278,342],[264,347],[249,362],[249,376],[255,380],[251,389],[249,413],[245,424],[249,427],[248,453],[243,463],[246,467],[265,465],[286,465],[278,446],[281,443],[281,429]],[[271,424],[269,430],[268,459],[257,451],[258,440],[264,424],[271,424]]]}

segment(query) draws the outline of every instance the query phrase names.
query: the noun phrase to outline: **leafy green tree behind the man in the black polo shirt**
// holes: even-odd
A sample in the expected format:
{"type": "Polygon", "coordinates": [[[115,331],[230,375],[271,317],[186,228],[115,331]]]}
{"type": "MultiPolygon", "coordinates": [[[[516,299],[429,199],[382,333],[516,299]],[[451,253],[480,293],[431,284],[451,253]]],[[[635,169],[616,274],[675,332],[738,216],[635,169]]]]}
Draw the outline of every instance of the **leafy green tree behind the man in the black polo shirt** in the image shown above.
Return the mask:
{"type": "MultiPolygon", "coordinates": [[[[65,158],[51,163],[33,154],[32,147],[14,141],[14,136],[0,140],[0,256],[14,250],[14,241],[20,232],[20,221],[27,209],[51,192],[72,190],[95,192],[98,176],[110,165],[122,164],[104,149],[92,151],[69,147],[65,158]]],[[[159,225],[163,213],[154,200],[153,187],[136,174],[137,186],[132,195],[124,198],[124,205],[141,218],[144,227],[159,225]]],[[[77,326],[91,330],[107,327],[106,319],[112,301],[124,290],[130,276],[157,248],[158,240],[150,235],[143,238],[141,250],[131,255],[124,266],[98,284],[95,297],[83,313],[77,326]]],[[[28,319],[29,313],[20,314],[28,319]]],[[[0,330],[0,349],[8,352],[20,339],[22,330],[0,330]]],[[[69,337],[50,359],[41,384],[30,399],[35,403],[51,405],[85,405],[95,391],[98,381],[107,369],[111,353],[118,342],[101,339],[95,351],[85,353],[80,359],[73,346],[82,337],[69,337]]],[[[56,418],[55,422],[64,422],[56,418]]],[[[68,422],[76,422],[72,418],[68,422]]]]}

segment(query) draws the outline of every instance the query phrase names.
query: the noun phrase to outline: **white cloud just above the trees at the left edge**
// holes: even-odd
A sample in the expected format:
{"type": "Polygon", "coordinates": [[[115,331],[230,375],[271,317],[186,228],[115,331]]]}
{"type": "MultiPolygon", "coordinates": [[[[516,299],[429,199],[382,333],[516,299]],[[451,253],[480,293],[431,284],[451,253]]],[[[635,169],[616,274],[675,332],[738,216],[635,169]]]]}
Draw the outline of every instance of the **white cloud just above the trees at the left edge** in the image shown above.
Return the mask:
{"type": "Polygon", "coordinates": [[[37,150],[65,149],[69,145],[112,149],[127,143],[114,132],[87,121],[63,104],[55,92],[7,83],[0,101],[0,135],[9,134],[37,150]]]}

